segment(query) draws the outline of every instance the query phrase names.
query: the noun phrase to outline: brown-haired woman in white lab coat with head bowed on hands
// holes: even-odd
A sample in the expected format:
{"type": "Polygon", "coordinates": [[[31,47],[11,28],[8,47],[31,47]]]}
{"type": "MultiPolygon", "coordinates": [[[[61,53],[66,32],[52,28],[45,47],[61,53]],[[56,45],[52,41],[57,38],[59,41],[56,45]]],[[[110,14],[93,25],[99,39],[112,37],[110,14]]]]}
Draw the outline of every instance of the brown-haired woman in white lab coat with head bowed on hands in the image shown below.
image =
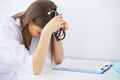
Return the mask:
{"type": "Polygon", "coordinates": [[[12,72],[40,74],[49,51],[55,64],[62,62],[62,42],[56,41],[53,32],[60,28],[67,29],[67,23],[62,15],[54,18],[48,15],[56,8],[50,0],[38,0],[25,12],[7,18],[1,24],[0,76],[12,72]]]}

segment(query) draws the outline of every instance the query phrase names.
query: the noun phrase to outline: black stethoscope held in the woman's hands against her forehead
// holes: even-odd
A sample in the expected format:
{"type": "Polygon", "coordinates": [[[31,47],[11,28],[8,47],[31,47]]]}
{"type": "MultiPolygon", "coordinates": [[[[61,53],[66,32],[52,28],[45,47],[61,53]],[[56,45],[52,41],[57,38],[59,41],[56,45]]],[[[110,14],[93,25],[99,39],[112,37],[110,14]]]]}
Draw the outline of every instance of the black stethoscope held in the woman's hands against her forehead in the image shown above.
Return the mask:
{"type": "MultiPolygon", "coordinates": [[[[57,16],[58,14],[62,13],[62,8],[57,7],[57,10],[51,10],[48,12],[48,15],[50,15],[52,18],[57,16]],[[58,13],[59,12],[59,13],[58,13]]],[[[65,30],[63,28],[60,28],[58,31],[54,32],[54,36],[57,41],[63,40],[66,36],[65,30]]]]}

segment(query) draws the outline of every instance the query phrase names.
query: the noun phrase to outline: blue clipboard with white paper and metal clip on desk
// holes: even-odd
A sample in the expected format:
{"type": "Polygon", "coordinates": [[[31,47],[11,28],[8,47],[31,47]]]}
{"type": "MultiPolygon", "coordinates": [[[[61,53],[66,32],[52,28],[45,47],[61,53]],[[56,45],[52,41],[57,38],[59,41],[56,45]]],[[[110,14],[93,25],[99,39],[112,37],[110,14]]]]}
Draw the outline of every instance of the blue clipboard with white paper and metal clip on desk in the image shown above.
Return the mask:
{"type": "Polygon", "coordinates": [[[111,66],[112,64],[109,61],[64,59],[63,63],[54,66],[52,69],[103,74],[111,66]]]}

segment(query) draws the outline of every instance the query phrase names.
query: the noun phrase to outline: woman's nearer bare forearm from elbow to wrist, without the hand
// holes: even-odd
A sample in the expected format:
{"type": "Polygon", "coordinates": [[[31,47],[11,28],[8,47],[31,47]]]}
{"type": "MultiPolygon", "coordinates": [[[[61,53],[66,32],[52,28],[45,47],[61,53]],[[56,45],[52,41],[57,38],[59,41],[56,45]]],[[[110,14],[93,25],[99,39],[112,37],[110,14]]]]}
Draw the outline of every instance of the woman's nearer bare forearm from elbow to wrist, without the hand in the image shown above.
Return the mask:
{"type": "Polygon", "coordinates": [[[36,75],[42,72],[42,68],[44,66],[48,52],[50,38],[51,38],[51,33],[48,33],[46,31],[42,32],[37,49],[33,54],[33,71],[34,74],[36,75]]]}

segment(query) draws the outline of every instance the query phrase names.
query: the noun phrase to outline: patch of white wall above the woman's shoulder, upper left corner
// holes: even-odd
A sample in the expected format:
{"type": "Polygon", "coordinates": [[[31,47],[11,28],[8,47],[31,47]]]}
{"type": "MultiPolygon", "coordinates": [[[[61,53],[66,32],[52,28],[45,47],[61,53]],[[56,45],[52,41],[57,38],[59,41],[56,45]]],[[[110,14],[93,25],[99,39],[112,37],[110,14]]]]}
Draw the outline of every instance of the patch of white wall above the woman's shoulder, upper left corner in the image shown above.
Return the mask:
{"type": "Polygon", "coordinates": [[[26,10],[34,0],[1,0],[0,1],[0,21],[14,15],[17,12],[26,10]]]}

